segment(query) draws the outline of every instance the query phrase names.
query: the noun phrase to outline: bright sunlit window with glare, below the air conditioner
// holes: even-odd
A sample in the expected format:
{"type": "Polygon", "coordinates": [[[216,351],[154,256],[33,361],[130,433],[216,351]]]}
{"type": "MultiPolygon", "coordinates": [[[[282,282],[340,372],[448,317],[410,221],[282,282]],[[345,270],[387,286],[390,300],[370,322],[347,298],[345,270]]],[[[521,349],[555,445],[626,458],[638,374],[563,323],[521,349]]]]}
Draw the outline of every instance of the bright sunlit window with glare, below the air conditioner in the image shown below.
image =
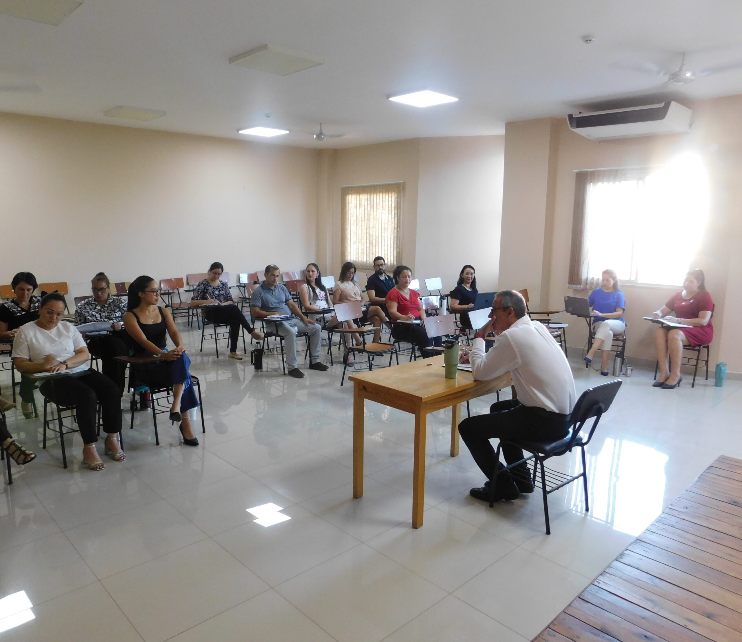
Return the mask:
{"type": "Polygon", "coordinates": [[[695,154],[666,166],[577,172],[570,287],[600,286],[603,269],[623,283],[681,284],[709,215],[706,171],[695,154]]]}

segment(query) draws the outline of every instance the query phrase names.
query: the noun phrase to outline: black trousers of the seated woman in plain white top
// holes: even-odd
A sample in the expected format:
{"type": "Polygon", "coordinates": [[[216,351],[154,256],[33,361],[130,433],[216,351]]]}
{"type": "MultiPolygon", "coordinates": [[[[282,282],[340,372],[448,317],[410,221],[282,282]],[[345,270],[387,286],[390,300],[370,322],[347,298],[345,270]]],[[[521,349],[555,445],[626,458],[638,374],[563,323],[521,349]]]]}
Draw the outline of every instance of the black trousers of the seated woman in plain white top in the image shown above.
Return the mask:
{"type": "Polygon", "coordinates": [[[45,381],[39,390],[47,399],[63,406],[76,406],[77,427],[85,444],[98,441],[96,430],[97,404],[100,402],[103,430],[121,432],[121,390],[107,376],[88,370],[79,377],[62,377],[45,381]],[[52,385],[53,384],[53,385],[52,385]]]}

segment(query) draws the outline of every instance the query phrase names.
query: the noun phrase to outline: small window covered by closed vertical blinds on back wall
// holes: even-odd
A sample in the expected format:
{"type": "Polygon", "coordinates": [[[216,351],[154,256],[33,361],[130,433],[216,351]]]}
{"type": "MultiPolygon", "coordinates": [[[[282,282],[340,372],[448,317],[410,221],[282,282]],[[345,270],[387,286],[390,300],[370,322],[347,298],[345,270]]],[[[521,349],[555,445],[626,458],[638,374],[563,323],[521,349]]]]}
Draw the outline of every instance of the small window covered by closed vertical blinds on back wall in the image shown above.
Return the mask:
{"type": "Polygon", "coordinates": [[[403,183],[341,187],[342,259],[358,269],[373,269],[383,256],[389,265],[401,261],[403,183]]]}

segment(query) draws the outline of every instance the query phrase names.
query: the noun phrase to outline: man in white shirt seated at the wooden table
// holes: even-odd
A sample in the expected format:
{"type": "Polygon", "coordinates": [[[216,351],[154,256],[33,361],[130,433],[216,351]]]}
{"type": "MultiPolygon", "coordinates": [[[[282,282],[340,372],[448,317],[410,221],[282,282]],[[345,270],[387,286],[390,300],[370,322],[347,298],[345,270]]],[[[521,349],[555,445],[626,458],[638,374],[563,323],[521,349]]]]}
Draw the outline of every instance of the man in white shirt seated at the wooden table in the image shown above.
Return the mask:
{"type": "MultiPolygon", "coordinates": [[[[577,401],[574,379],[562,349],[541,323],[533,323],[525,312],[525,299],[519,292],[498,292],[492,302],[490,320],[474,338],[471,350],[462,361],[471,363],[477,381],[494,379],[510,372],[518,399],[506,399],[490,406],[490,413],[471,416],[459,424],[459,434],[479,468],[487,476],[482,488],[469,494],[490,501],[490,479],[495,465],[495,450],[490,439],[518,439],[552,442],[566,436],[569,417],[577,401]],[[485,353],[485,336],[491,331],[497,340],[485,353]]],[[[508,465],[523,459],[523,451],[503,444],[508,465]]],[[[497,475],[495,500],[516,499],[532,493],[528,466],[521,464],[497,475]]]]}

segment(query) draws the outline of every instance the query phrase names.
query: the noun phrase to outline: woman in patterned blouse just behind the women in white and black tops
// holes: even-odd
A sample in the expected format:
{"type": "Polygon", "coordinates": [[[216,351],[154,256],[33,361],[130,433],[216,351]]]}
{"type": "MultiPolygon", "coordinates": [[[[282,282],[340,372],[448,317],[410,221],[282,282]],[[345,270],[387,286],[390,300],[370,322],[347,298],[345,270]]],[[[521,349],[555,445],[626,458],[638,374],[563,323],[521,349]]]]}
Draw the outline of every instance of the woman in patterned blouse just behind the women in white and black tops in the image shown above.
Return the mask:
{"type": "Polygon", "coordinates": [[[105,322],[111,323],[111,333],[88,338],[88,350],[100,359],[103,374],[110,377],[124,392],[126,364],[116,357],[129,353],[124,332],[123,316],[126,299],[111,294],[111,281],[103,272],[98,272],[91,281],[93,296],[86,298],[75,309],[75,325],[105,322]]]}

